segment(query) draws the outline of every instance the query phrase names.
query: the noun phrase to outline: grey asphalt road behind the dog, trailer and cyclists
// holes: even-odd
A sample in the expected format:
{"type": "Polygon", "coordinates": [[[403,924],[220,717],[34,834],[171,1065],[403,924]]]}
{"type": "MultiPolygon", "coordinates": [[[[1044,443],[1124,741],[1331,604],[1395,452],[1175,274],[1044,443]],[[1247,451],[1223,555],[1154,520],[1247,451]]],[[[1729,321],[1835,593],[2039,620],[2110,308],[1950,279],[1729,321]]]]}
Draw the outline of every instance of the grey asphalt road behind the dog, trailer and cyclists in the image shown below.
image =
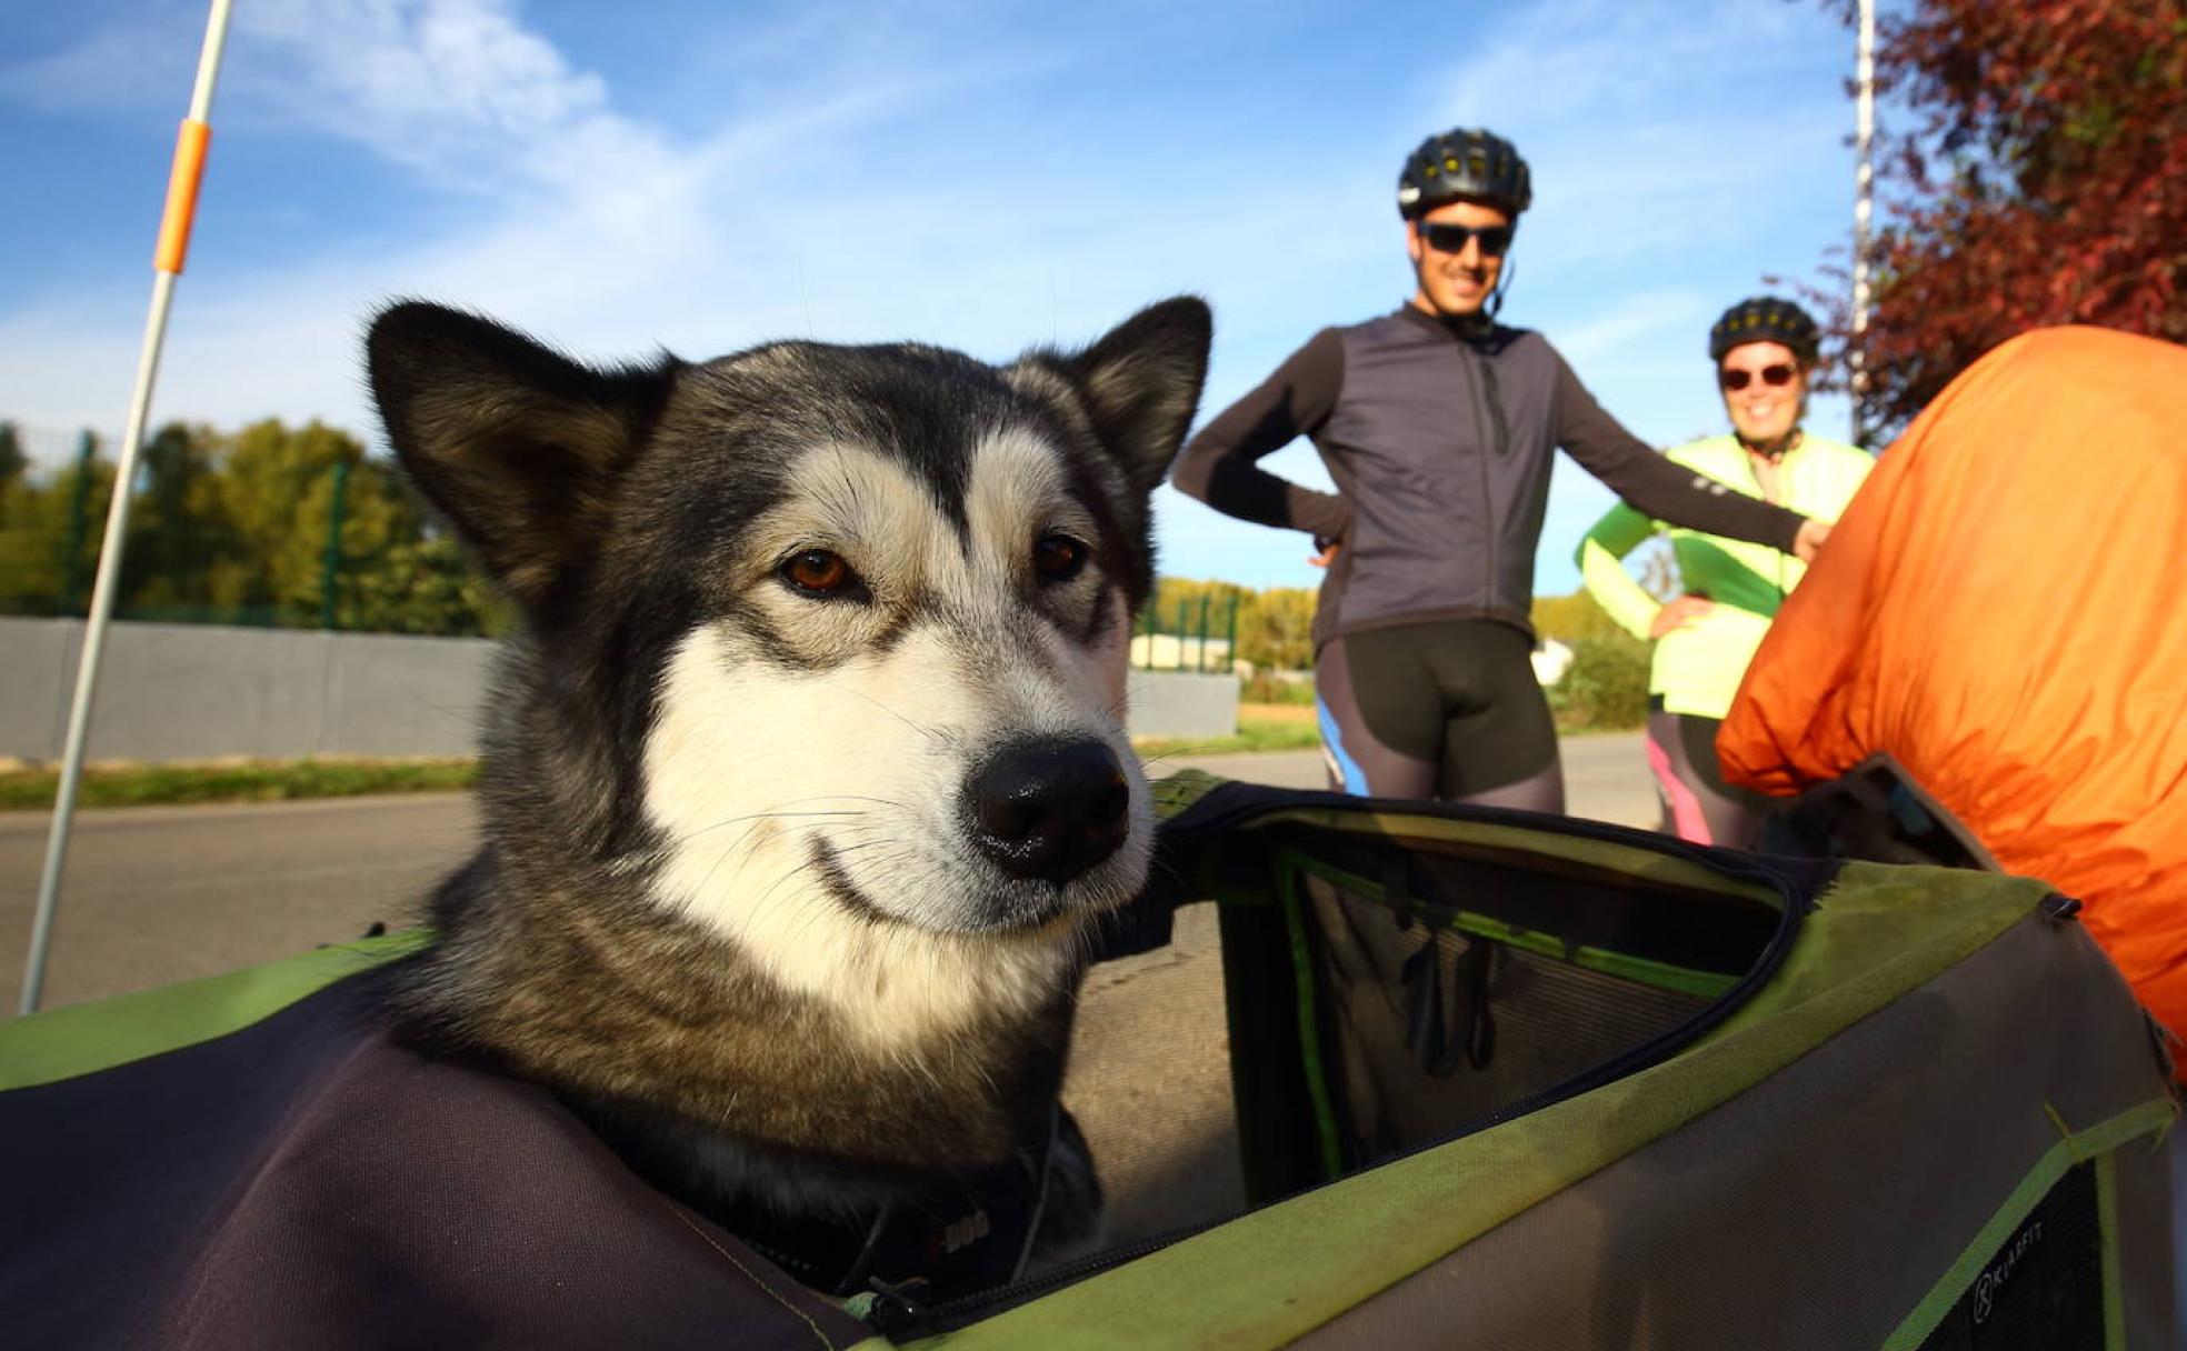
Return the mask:
{"type": "MultiPolygon", "coordinates": [[[[1323,787],[1321,752],[1179,756],[1157,772],[1323,787]]],[[[1649,824],[1638,735],[1564,743],[1577,815],[1649,824]]],[[[0,1017],[15,1010],[46,846],[44,813],[0,815],[0,1017]]],[[[472,848],[466,794],[265,807],[138,807],[77,818],[46,1008],[217,975],[400,927],[472,848]]],[[[1063,1089],[1094,1148],[1113,1242],[1242,1202],[1214,907],[1155,953],[1098,966],[1063,1089]]]]}

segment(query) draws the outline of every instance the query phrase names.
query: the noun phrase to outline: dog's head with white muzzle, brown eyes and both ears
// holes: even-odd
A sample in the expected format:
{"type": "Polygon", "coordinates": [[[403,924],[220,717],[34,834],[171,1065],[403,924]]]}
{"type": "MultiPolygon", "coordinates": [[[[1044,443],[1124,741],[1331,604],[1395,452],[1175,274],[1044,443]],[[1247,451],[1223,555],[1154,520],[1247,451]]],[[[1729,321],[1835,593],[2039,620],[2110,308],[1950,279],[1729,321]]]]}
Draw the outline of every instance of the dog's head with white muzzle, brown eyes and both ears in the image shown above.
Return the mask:
{"type": "Polygon", "coordinates": [[[1144,883],[1128,630],[1207,341],[1177,299],[1006,367],[593,372],[405,304],[370,354],[411,479],[527,612],[571,844],[833,997],[1045,968],[1144,883]]]}

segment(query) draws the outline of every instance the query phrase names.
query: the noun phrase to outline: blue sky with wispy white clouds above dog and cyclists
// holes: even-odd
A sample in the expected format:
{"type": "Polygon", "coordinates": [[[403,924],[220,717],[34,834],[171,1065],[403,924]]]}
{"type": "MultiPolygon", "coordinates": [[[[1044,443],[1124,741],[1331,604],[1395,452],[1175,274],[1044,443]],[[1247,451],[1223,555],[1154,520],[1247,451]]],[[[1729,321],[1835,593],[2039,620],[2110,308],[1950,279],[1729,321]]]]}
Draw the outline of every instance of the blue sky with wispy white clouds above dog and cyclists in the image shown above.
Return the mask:
{"type": "MultiPolygon", "coordinates": [[[[238,0],[234,24],[155,420],[370,435],[356,337],[389,295],[597,359],[1006,359],[1196,291],[1214,411],[1408,295],[1397,164],[1487,125],[1537,190],[1505,319],[1671,444],[1723,424],[1708,321],[1850,230],[1852,35],[1802,0],[238,0]]],[[[55,444],[127,411],[201,31],[199,0],[0,15],[0,418],[55,444]]],[[[1811,426],[1844,435],[1844,404],[1811,426]]],[[[1303,442],[1268,466],[1328,483],[1303,442]]],[[[1607,503],[1559,466],[1544,592],[1607,503]]],[[[1172,490],[1159,538],[1174,575],[1319,579],[1301,538],[1172,490]]]]}

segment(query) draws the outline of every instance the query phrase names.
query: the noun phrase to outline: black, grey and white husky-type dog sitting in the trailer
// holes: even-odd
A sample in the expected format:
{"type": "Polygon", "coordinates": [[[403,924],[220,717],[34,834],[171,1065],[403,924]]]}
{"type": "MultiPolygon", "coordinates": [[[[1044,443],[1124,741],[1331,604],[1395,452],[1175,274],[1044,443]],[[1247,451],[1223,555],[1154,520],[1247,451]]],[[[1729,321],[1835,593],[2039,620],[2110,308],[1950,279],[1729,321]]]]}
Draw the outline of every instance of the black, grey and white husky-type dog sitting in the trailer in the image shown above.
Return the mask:
{"type": "Polygon", "coordinates": [[[1126,654],[1207,345],[1181,297],[1002,367],[593,369],[381,313],[387,437],[523,616],[409,1034],[551,1086],[809,1283],[1006,1211],[1085,1229],[1056,1086],[1087,927],[1148,872],[1126,654]]]}

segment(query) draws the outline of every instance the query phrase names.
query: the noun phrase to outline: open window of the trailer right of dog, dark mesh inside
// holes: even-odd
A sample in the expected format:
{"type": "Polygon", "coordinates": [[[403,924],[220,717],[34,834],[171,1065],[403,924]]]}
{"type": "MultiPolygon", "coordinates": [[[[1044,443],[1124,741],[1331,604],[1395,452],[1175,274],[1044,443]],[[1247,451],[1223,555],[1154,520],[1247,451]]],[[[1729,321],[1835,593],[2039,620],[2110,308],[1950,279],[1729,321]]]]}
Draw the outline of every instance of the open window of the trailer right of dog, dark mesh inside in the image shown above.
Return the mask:
{"type": "Polygon", "coordinates": [[[1080,995],[1063,1102],[1120,1246],[1483,1126],[1673,1032],[1778,929],[1581,855],[1312,824],[1227,844],[1258,881],[1080,995]]]}

